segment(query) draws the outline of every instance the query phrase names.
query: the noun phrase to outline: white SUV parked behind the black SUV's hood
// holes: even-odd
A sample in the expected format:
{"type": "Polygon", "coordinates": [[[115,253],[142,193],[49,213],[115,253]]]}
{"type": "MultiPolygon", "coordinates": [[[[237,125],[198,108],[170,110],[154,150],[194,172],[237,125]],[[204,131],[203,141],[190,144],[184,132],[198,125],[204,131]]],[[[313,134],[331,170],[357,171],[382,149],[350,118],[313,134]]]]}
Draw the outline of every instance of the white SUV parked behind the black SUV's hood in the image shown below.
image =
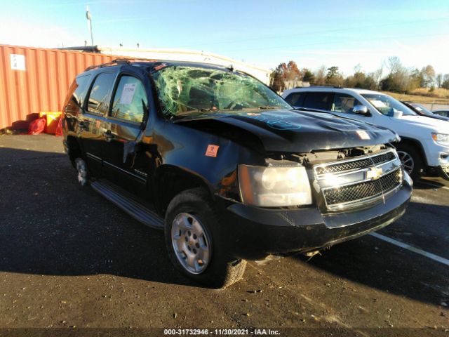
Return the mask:
{"type": "Polygon", "coordinates": [[[377,91],[317,86],[293,88],[282,97],[295,108],[332,112],[396,131],[396,148],[413,179],[424,171],[449,180],[449,121],[419,116],[398,100],[377,91]]]}

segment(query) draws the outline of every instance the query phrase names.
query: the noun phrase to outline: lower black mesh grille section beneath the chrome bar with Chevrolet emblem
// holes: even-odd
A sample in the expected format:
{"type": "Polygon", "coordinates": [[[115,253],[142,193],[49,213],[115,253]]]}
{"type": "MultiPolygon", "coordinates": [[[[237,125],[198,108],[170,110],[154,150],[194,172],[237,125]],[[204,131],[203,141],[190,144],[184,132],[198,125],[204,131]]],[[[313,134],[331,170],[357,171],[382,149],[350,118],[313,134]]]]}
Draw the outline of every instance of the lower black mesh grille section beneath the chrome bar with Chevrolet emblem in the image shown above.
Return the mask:
{"type": "Polygon", "coordinates": [[[323,191],[326,204],[345,204],[350,201],[376,197],[389,192],[401,183],[401,169],[388,173],[377,180],[368,180],[363,183],[330,188],[323,191]]]}

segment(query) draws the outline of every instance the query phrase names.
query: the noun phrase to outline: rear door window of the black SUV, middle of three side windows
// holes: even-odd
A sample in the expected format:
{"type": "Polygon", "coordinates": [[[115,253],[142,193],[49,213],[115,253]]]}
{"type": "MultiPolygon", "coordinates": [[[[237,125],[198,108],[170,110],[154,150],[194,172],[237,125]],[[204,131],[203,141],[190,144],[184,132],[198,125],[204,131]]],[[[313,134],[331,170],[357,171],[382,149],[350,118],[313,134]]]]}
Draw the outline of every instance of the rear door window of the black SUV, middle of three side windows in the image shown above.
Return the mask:
{"type": "Polygon", "coordinates": [[[93,114],[106,114],[109,110],[114,73],[103,72],[93,82],[89,93],[87,111],[93,114]]]}

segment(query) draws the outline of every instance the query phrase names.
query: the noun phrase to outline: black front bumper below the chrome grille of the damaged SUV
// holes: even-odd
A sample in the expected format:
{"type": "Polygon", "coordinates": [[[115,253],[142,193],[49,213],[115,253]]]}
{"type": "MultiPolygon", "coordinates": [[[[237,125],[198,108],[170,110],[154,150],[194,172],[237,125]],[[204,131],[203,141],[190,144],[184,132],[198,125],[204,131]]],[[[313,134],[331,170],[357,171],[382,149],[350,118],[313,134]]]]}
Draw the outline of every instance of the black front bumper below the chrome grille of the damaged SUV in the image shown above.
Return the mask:
{"type": "Polygon", "coordinates": [[[389,225],[400,218],[412,194],[404,180],[396,193],[368,209],[323,215],[319,209],[262,209],[223,204],[223,231],[232,255],[250,260],[269,253],[313,251],[389,225]]]}

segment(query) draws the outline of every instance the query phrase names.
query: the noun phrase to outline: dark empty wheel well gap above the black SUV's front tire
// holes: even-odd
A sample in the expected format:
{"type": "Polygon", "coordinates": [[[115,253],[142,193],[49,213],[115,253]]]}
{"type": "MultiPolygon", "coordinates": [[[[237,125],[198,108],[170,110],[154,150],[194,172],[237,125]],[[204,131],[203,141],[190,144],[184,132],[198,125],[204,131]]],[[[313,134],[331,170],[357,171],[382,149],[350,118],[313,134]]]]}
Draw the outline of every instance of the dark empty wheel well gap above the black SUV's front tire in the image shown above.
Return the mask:
{"type": "Polygon", "coordinates": [[[154,195],[156,196],[156,207],[162,214],[166,213],[170,201],[182,191],[196,187],[204,187],[211,197],[208,184],[203,178],[196,176],[194,173],[187,172],[175,166],[159,170],[161,171],[156,173],[154,184],[156,191],[154,191],[154,195]]]}

